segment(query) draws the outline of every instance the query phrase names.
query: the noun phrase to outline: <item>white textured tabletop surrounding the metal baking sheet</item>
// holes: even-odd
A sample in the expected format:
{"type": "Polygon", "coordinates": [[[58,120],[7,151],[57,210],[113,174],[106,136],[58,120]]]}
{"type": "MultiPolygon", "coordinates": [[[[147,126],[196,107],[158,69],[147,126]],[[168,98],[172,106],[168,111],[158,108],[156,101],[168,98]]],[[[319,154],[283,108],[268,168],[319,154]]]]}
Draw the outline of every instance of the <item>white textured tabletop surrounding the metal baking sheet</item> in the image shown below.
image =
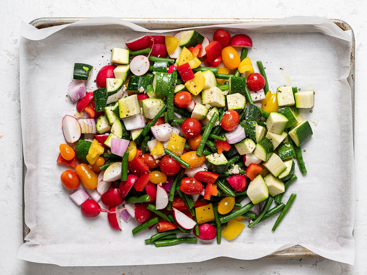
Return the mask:
{"type": "MultiPolygon", "coordinates": [[[[97,2],[97,1],[95,1],[97,2]]],[[[98,5],[88,0],[2,1],[0,32],[0,274],[366,274],[367,273],[367,207],[364,164],[367,150],[364,143],[366,103],[362,81],[366,72],[367,3],[348,1],[103,1],[98,5]],[[264,2],[263,4],[260,4],[264,2]],[[227,3],[224,5],[224,3],[227,3]],[[233,3],[233,4],[228,4],[233,3]],[[138,5],[138,6],[137,6],[138,5]],[[182,18],[277,18],[291,15],[317,15],[348,22],[356,36],[356,261],[354,266],[326,259],[261,259],[241,261],[214,259],[203,263],[126,267],[58,267],[35,264],[16,258],[22,243],[22,159],[19,111],[19,38],[20,20],[38,17],[182,17],[182,18]],[[360,81],[359,81],[360,80],[360,81]]],[[[35,133],[36,134],[36,133],[35,133]]],[[[342,209],[336,209],[336,211],[342,209]]],[[[315,213],[317,214],[317,213],[315,213]]],[[[312,222],[312,221],[310,221],[312,222]]],[[[322,225],[320,225],[322,226],[322,225]]],[[[246,249],[246,247],[244,247],[246,249]]],[[[101,252],[103,253],[103,252],[101,252]]],[[[107,252],[106,252],[107,253],[107,252]]],[[[203,251],[205,253],[205,251],[203,251]]],[[[116,256],[116,255],[115,255],[116,256]]],[[[123,256],[123,255],[121,255],[123,256]]]]}

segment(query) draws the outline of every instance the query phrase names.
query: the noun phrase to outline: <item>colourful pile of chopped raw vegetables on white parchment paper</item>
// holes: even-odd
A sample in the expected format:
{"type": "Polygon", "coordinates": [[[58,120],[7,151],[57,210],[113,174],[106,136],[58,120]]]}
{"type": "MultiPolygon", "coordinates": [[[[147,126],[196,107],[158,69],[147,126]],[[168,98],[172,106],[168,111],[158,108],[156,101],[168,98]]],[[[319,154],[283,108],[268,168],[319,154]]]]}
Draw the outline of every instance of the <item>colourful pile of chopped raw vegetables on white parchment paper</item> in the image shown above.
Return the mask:
{"type": "Polygon", "coordinates": [[[188,30],[126,46],[112,49],[93,92],[86,89],[93,66],[74,65],[68,94],[78,113],[62,120],[69,145],[60,145],[57,162],[75,169],[61,182],[76,190],[70,199],[81,213],[105,212],[120,231],[120,217],[134,219],[133,235],[156,228],[145,240],[156,247],[231,240],[243,219],[251,228],[280,213],[275,231],[296,197],[281,202],[297,179],[294,158],[307,172],[301,144],[312,129],[298,114],[313,107],[314,92],[269,91],[245,34],[217,30],[209,41],[188,30]],[[191,230],[195,236],[177,236],[191,230]]]}

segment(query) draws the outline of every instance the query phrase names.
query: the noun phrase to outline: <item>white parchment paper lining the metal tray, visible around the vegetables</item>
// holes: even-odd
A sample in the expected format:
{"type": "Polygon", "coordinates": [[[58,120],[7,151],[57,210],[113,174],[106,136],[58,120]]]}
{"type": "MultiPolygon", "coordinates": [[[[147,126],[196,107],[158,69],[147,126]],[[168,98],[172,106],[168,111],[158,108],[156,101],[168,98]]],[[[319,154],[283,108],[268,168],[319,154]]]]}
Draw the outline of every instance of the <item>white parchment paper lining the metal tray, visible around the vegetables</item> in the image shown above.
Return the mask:
{"type": "MultiPolygon", "coordinates": [[[[276,232],[270,230],[275,221],[272,218],[272,221],[269,220],[258,228],[248,230],[245,228],[233,241],[228,242],[224,239],[220,246],[212,243],[205,253],[203,253],[205,246],[188,244],[164,248],[165,253],[174,255],[176,252],[177,257],[167,259],[156,256],[155,258],[146,256],[157,254],[154,253],[156,250],[153,250],[155,247],[146,247],[142,243],[144,238],[151,235],[149,232],[132,238],[131,228],[135,224],[129,223],[124,226],[124,231],[120,234],[112,231],[107,221],[101,221],[105,217],[90,220],[82,217],[81,214],[71,214],[75,213],[76,207],[65,195],[58,176],[65,167],[54,164],[54,159],[57,157],[58,144],[65,142],[59,121],[66,113],[75,113],[75,106],[66,100],[66,97],[65,103],[64,100],[60,103],[60,99],[66,95],[65,87],[71,81],[74,62],[94,65],[95,75],[103,65],[109,62],[110,48],[123,47],[126,40],[143,35],[143,33],[131,32],[121,25],[123,22],[116,18],[88,19],[67,25],[66,29],[44,40],[29,41],[22,38],[21,67],[24,69],[21,69],[21,107],[23,147],[25,164],[28,167],[25,183],[25,215],[26,224],[30,227],[31,233],[27,236],[30,242],[22,245],[19,257],[59,265],[178,263],[202,261],[217,256],[253,259],[298,243],[323,257],[353,263],[353,147],[350,137],[352,135],[350,89],[346,81],[349,74],[350,41],[348,41],[348,33],[324,18],[292,17],[267,21],[272,23],[256,22],[223,26],[231,34],[243,32],[240,28],[246,29],[246,33],[254,41],[254,48],[250,50],[249,56],[253,62],[263,61],[272,89],[280,85],[288,85],[287,81],[291,81],[290,85],[297,85],[302,90],[315,89],[316,91],[316,106],[313,108],[313,113],[306,113],[306,111],[302,113],[305,119],[316,118],[318,122],[317,125],[312,125],[313,137],[305,143],[307,152],[304,152],[304,158],[309,173],[306,176],[298,175],[297,183],[294,183],[290,187],[289,194],[284,196],[287,199],[291,192],[298,194],[292,211],[288,212],[286,219],[282,221],[276,232]],[[106,37],[109,37],[108,41],[106,37]],[[343,39],[347,40],[343,41],[343,39]],[[50,80],[45,81],[50,79],[50,75],[52,75],[52,85],[50,80]],[[42,80],[47,85],[41,85],[42,80]],[[32,96],[30,96],[31,93],[32,96]],[[330,98],[330,95],[333,96],[330,98]],[[340,98],[343,98],[342,102],[340,98]],[[53,108],[55,104],[57,108],[53,108]],[[43,114],[42,117],[36,116],[39,113],[43,114]],[[343,113],[342,122],[338,119],[341,113],[343,113]],[[35,117],[37,120],[34,119],[35,117]],[[59,118],[59,121],[52,118],[59,118]],[[47,125],[43,128],[54,133],[53,140],[47,140],[45,143],[43,137],[35,137],[32,130],[35,123],[47,125]],[[341,127],[335,127],[335,125],[341,127]],[[339,140],[346,142],[339,144],[339,140]],[[32,149],[30,143],[33,146],[39,145],[32,149]],[[340,154],[345,156],[344,159],[335,157],[340,154]],[[40,157],[36,160],[32,155],[40,155],[40,157]],[[325,159],[337,159],[337,162],[328,164],[325,163],[325,159]],[[325,169],[321,170],[317,166],[325,169]],[[348,184],[345,185],[345,183],[348,184]],[[31,194],[32,200],[29,197],[31,194]],[[335,197],[339,198],[337,202],[335,197]],[[64,208],[65,213],[52,210],[50,205],[54,205],[55,209],[64,208]],[[338,213],[333,210],[340,209],[340,206],[346,209],[345,212],[338,213]],[[309,210],[299,210],[304,208],[309,210]],[[334,226],[336,224],[338,226],[334,226]],[[89,226],[92,227],[91,230],[88,229],[89,226]],[[283,230],[280,230],[281,227],[283,230]],[[70,238],[68,234],[65,235],[65,232],[70,231],[78,232],[77,239],[70,238]],[[287,233],[284,234],[285,232],[287,233]],[[131,247],[134,247],[134,251],[131,251],[131,247]],[[101,256],[101,253],[95,257],[91,256],[101,249],[123,252],[121,254],[129,251],[132,252],[128,253],[129,255],[135,256],[134,259],[123,256],[109,259],[101,256]],[[186,256],[177,253],[181,249],[187,251],[186,256]]],[[[27,30],[25,34],[25,30],[23,28],[21,30],[21,33],[28,38],[41,37],[35,30],[37,37],[31,35],[32,32],[33,30],[27,30]]],[[[213,32],[211,27],[200,30],[200,33],[208,37],[211,37],[213,32]]],[[[91,79],[94,79],[94,76],[91,79]]],[[[87,87],[92,91],[95,84],[88,81],[87,87]]],[[[207,245],[208,243],[210,242],[206,242],[207,245]]]]}

